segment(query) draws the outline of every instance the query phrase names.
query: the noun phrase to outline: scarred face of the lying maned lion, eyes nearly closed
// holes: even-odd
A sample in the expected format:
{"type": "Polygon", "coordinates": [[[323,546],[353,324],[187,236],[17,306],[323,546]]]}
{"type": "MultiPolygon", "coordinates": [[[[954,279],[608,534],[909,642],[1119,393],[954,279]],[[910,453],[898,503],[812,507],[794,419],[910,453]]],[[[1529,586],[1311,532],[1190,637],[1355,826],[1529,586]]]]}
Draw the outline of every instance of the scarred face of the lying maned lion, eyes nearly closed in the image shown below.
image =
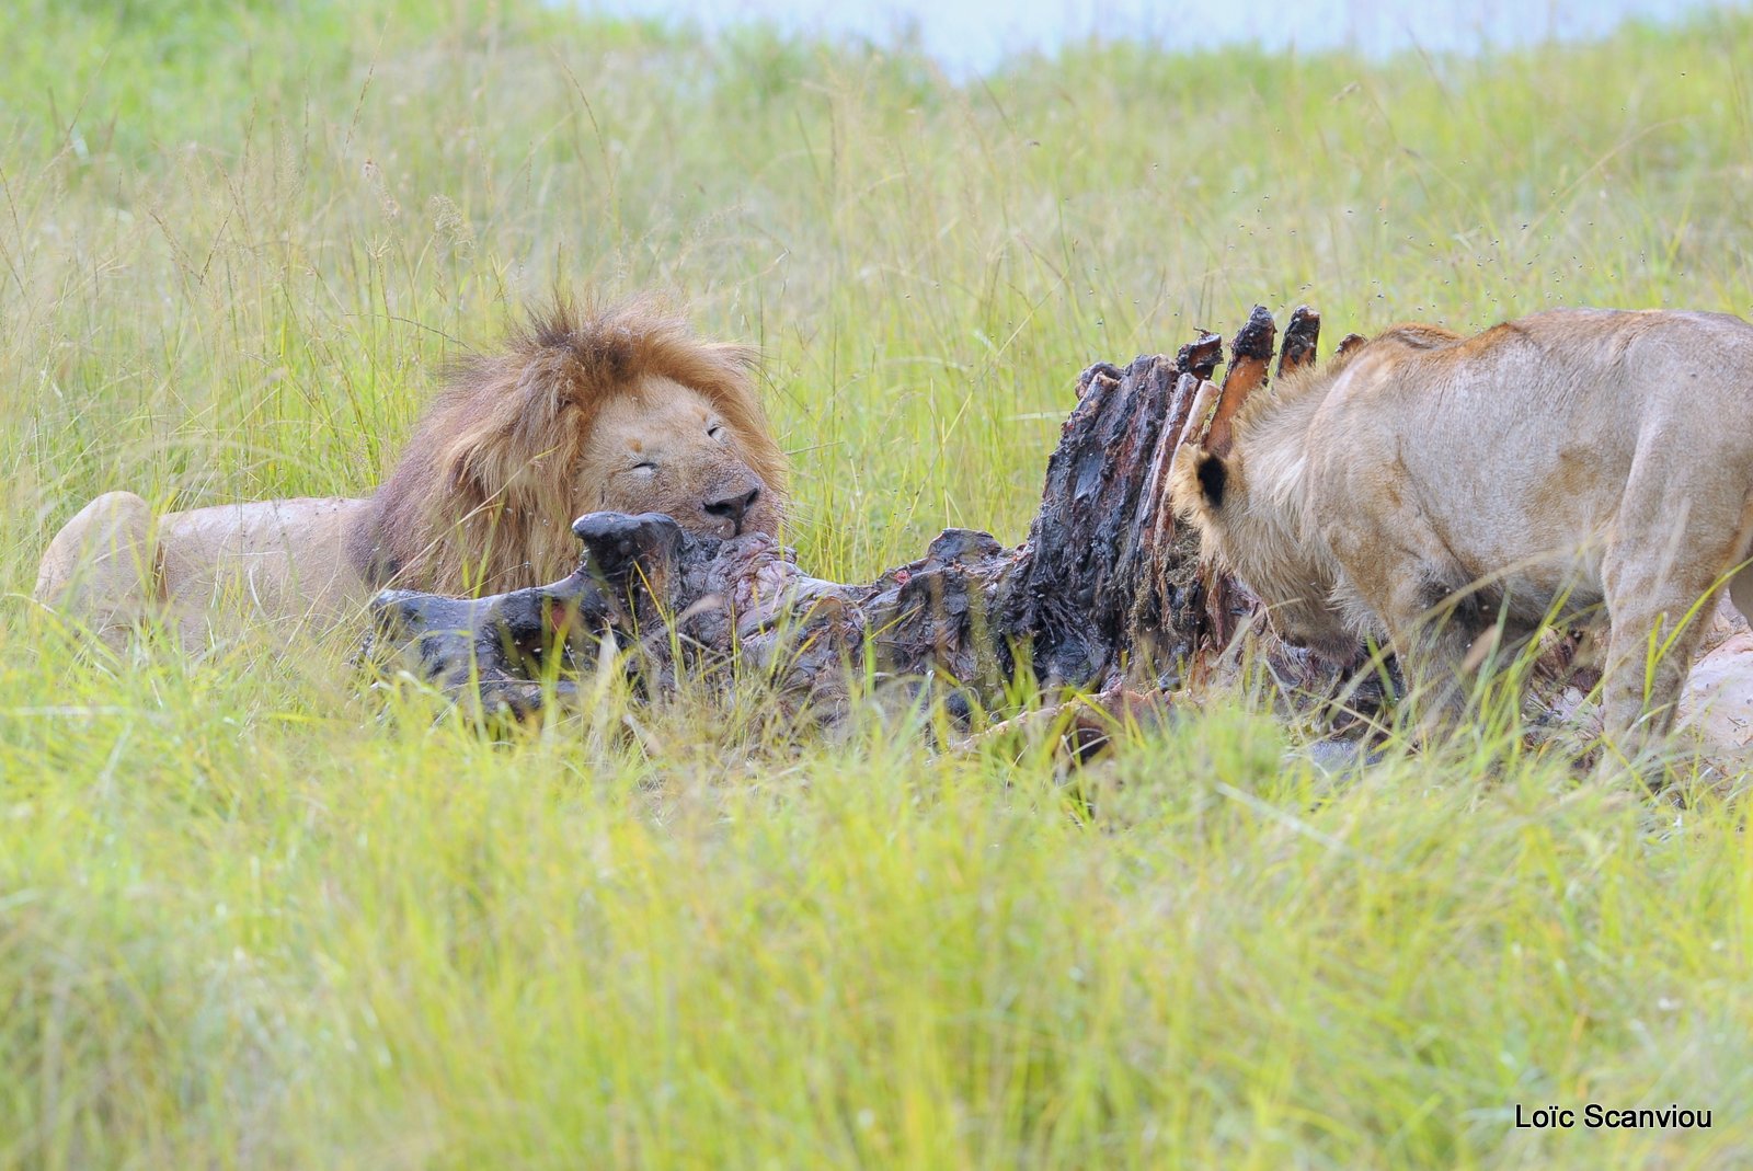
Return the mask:
{"type": "Polygon", "coordinates": [[[596,415],[578,463],[578,512],[663,512],[710,536],[773,533],[778,498],[735,428],[680,382],[647,377],[596,415]]]}

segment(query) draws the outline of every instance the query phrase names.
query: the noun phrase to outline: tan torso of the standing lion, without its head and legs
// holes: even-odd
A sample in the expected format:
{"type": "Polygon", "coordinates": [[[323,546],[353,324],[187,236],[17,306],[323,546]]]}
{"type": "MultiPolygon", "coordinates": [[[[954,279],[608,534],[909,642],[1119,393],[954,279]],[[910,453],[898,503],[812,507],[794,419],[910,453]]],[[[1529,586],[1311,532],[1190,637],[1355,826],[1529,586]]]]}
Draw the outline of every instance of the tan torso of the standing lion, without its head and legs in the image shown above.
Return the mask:
{"type": "Polygon", "coordinates": [[[1360,507],[1411,508],[1471,577],[1571,559],[1613,528],[1637,466],[1681,494],[1748,491],[1749,405],[1753,326],[1727,314],[1564,309],[1466,338],[1390,330],[1317,412],[1311,508],[1339,528],[1360,507]]]}

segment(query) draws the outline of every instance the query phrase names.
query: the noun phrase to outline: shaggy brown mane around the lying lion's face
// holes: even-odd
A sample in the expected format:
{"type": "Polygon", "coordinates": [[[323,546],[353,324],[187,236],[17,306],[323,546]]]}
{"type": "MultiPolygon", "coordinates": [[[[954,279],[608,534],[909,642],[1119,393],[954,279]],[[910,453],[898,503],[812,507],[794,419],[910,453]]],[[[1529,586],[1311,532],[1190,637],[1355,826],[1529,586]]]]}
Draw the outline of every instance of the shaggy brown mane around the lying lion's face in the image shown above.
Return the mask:
{"type": "Polygon", "coordinates": [[[449,593],[566,573],[578,557],[575,468],[594,419],[652,377],[708,398],[749,466],[784,493],[785,458],[754,368],[754,347],[703,342],[654,302],[580,309],[556,298],[500,351],[452,366],[377,491],[359,542],[368,547],[356,547],[354,559],[373,580],[449,593]]]}

